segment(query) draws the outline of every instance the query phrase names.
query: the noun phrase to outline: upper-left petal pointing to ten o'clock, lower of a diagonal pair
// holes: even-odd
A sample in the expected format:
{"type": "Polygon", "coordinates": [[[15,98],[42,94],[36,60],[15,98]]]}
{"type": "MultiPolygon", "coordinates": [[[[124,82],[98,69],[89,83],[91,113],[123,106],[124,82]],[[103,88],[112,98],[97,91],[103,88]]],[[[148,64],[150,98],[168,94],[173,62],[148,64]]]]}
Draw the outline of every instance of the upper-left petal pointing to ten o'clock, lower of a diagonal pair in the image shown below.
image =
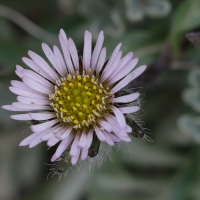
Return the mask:
{"type": "Polygon", "coordinates": [[[40,66],[38,66],[38,64],[36,62],[34,62],[33,60],[29,59],[29,58],[22,58],[23,62],[28,65],[32,70],[34,70],[35,72],[37,72],[38,74],[40,74],[41,76],[45,77],[46,79],[50,80],[51,82],[55,83],[56,81],[49,76],[40,66]]]}

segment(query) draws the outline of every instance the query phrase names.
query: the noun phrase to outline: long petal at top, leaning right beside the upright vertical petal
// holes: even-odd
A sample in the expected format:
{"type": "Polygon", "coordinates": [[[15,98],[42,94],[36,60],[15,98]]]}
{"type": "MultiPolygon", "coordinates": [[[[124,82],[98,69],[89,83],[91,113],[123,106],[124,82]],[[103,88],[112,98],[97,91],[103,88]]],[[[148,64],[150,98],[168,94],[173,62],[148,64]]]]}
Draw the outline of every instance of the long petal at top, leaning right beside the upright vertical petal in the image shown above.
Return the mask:
{"type": "Polygon", "coordinates": [[[98,35],[98,38],[97,38],[97,42],[96,42],[96,45],[94,47],[94,51],[93,51],[93,54],[92,54],[92,59],[91,59],[91,68],[94,70],[95,66],[96,66],[96,63],[97,63],[97,59],[99,57],[99,54],[100,54],[100,51],[101,51],[101,48],[103,46],[103,41],[104,41],[104,35],[103,35],[103,31],[101,31],[98,35]]]}

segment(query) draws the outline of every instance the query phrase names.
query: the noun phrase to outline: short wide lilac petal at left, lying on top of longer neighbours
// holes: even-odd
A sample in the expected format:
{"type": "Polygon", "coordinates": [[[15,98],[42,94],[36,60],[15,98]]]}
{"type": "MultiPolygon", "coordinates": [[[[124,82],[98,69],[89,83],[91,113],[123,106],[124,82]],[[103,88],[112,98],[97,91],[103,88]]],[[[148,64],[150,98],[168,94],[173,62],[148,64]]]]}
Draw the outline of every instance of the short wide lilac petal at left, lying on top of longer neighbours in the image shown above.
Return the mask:
{"type": "Polygon", "coordinates": [[[44,93],[44,94],[51,94],[53,93],[53,90],[46,87],[45,85],[42,85],[41,83],[38,83],[30,78],[22,78],[23,82],[31,87],[32,89],[44,93]]]}

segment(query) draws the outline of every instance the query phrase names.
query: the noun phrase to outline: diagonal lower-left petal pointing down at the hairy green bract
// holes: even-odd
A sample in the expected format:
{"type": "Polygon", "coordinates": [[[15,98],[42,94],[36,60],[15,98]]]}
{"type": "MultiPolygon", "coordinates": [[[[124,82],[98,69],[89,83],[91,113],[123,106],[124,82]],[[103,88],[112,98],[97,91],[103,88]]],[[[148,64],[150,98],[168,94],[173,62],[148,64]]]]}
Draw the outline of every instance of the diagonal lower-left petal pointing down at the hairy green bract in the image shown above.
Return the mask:
{"type": "Polygon", "coordinates": [[[51,158],[51,162],[54,162],[55,160],[57,160],[61,156],[61,154],[65,151],[65,149],[67,149],[67,147],[69,146],[69,144],[71,143],[73,138],[74,138],[73,135],[70,135],[69,137],[67,137],[65,140],[63,140],[59,144],[56,152],[54,153],[54,155],[51,158]]]}

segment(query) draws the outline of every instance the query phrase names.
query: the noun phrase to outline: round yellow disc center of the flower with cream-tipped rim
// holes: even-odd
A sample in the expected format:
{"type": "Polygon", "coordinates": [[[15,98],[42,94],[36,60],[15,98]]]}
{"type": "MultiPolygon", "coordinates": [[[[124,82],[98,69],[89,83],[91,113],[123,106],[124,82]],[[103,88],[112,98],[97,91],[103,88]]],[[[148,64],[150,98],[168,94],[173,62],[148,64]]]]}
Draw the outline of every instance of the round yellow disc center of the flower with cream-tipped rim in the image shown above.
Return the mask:
{"type": "Polygon", "coordinates": [[[90,75],[68,75],[49,95],[57,117],[74,128],[89,127],[108,110],[108,88],[90,75]]]}

